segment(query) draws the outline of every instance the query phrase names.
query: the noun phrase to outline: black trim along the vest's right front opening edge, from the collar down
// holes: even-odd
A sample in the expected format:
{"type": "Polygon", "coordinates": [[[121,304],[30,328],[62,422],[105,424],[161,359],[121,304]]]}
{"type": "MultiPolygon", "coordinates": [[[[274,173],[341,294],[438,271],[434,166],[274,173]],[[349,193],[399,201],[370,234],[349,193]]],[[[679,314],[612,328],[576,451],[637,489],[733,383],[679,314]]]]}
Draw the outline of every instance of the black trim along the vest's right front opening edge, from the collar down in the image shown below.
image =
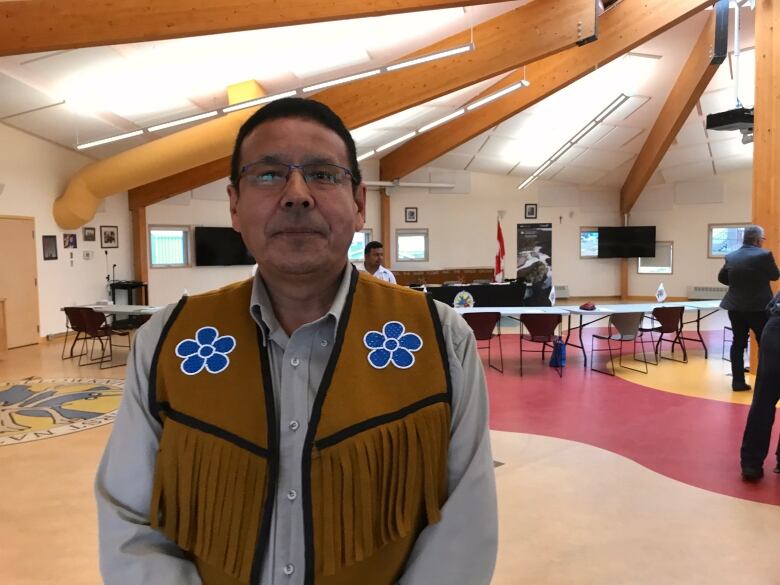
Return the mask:
{"type": "MultiPolygon", "coordinates": [[[[344,301],[344,309],[339,317],[339,325],[336,330],[336,339],[333,343],[333,351],[330,354],[330,360],[322,374],[320,387],[317,389],[317,397],[314,400],[311,416],[309,417],[309,429],[306,432],[306,440],[303,444],[303,458],[301,460],[301,476],[303,492],[303,542],[304,554],[306,558],[304,585],[314,585],[314,511],[312,510],[311,497],[311,453],[314,448],[314,437],[317,436],[317,425],[322,416],[322,405],[325,403],[325,394],[333,380],[333,372],[336,370],[336,363],[341,355],[341,349],[344,345],[344,334],[347,330],[347,324],[352,314],[352,301],[355,299],[355,289],[358,282],[358,271],[352,264],[352,274],[349,279],[349,291],[344,301]]],[[[348,270],[349,268],[347,268],[348,270]]]]}

